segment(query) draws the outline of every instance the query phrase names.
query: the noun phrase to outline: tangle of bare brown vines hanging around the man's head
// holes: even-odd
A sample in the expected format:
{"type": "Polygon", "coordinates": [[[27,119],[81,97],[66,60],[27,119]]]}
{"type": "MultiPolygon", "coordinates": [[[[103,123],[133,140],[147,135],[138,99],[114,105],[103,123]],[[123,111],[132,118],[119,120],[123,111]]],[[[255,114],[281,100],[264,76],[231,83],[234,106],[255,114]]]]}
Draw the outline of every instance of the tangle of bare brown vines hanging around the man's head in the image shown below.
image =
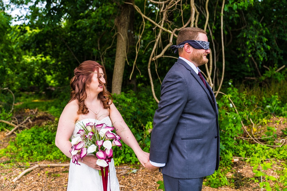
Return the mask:
{"type": "MultiPolygon", "coordinates": [[[[154,34],[155,34],[155,40],[152,41],[152,43],[154,43],[154,46],[152,48],[152,51],[150,53],[150,58],[148,61],[148,75],[149,75],[149,79],[150,79],[150,84],[151,84],[151,89],[152,89],[152,94],[154,99],[156,100],[156,102],[159,102],[159,99],[156,97],[155,91],[154,91],[154,82],[153,82],[153,76],[152,76],[152,72],[151,72],[151,63],[152,61],[155,62],[155,66],[156,66],[156,73],[157,73],[157,64],[156,64],[156,60],[158,58],[161,57],[172,57],[172,58],[176,58],[173,56],[166,56],[165,53],[168,50],[168,48],[172,45],[172,42],[174,40],[174,38],[177,38],[177,33],[178,31],[180,31],[181,29],[187,27],[187,26],[191,26],[191,27],[198,27],[198,21],[199,21],[199,11],[201,11],[201,13],[203,14],[203,16],[205,17],[205,23],[203,25],[204,30],[206,31],[207,28],[209,29],[209,32],[211,33],[210,36],[212,38],[212,44],[213,44],[213,51],[210,52],[210,63],[209,65],[205,65],[206,68],[206,74],[203,72],[203,75],[205,76],[206,80],[208,81],[208,83],[210,84],[210,86],[213,88],[213,90],[215,90],[215,76],[218,74],[215,73],[216,71],[216,57],[218,55],[216,55],[216,50],[215,50],[215,44],[214,44],[214,39],[213,39],[213,35],[212,35],[212,29],[210,29],[210,25],[209,25],[209,10],[208,10],[208,3],[209,0],[205,1],[205,5],[203,7],[202,5],[199,5],[201,2],[197,1],[197,3],[194,0],[190,0],[190,1],[186,1],[183,2],[182,0],[166,0],[166,1],[154,1],[154,0],[150,0],[148,1],[148,3],[153,3],[156,6],[156,17],[153,20],[151,17],[149,17],[148,15],[146,15],[146,2],[145,2],[145,6],[144,6],[144,11],[141,11],[141,9],[135,5],[135,2],[133,2],[133,7],[135,8],[135,10],[141,15],[143,21],[142,21],[142,25],[143,28],[140,29],[140,35],[138,38],[138,42],[137,42],[137,46],[136,46],[136,56],[135,56],[135,61],[133,64],[133,70],[131,72],[130,75],[130,79],[131,76],[133,75],[134,72],[134,67],[136,67],[136,59],[137,59],[137,54],[139,52],[139,47],[140,47],[140,40],[142,35],[144,34],[144,29],[145,29],[145,23],[146,21],[151,22],[154,27],[154,34]],[[189,3],[189,4],[188,4],[189,3]],[[188,10],[189,15],[187,16],[186,11],[188,10]],[[172,15],[172,13],[174,13],[174,11],[178,12],[178,14],[180,14],[180,19],[181,19],[181,25],[182,26],[178,26],[176,25],[173,21],[169,20],[169,16],[172,15]],[[185,16],[185,17],[183,17],[185,16]],[[160,19],[158,21],[158,19],[160,19]],[[162,42],[162,36],[164,33],[168,33],[169,35],[169,39],[168,39],[168,44],[166,44],[165,46],[163,45],[162,42]],[[161,48],[162,50],[159,51],[159,48],[161,48]],[[213,53],[213,55],[212,55],[213,53]],[[213,64],[214,62],[214,64],[213,64]],[[213,68],[215,68],[213,70],[213,68]],[[214,72],[212,74],[212,72],[214,72]],[[212,78],[213,76],[213,78],[212,78]]],[[[216,4],[217,5],[217,4],[216,4]]],[[[216,90],[216,92],[219,92],[221,86],[222,86],[222,82],[223,82],[223,78],[224,78],[224,36],[223,36],[223,11],[224,11],[224,0],[222,1],[222,9],[221,9],[221,44],[222,44],[222,63],[223,63],[223,67],[222,67],[222,72],[221,72],[221,80],[220,80],[220,84],[218,86],[218,89],[216,90]]],[[[215,11],[216,12],[216,11],[215,11]]],[[[216,13],[214,13],[215,15],[216,13]]],[[[215,19],[215,16],[214,16],[215,19]]],[[[215,21],[214,21],[215,22],[215,21]]],[[[214,25],[214,23],[213,23],[214,25]]],[[[151,43],[151,42],[150,42],[151,43]]],[[[158,75],[158,74],[157,74],[158,75]]],[[[158,76],[157,76],[158,77],[158,76]]],[[[158,77],[159,78],[159,77],[158,77]]],[[[217,78],[219,78],[219,76],[217,76],[217,78]]],[[[159,79],[160,80],[160,79],[159,79]]],[[[161,82],[161,80],[160,80],[161,82]]],[[[216,97],[217,97],[218,93],[216,93],[216,97]]]]}

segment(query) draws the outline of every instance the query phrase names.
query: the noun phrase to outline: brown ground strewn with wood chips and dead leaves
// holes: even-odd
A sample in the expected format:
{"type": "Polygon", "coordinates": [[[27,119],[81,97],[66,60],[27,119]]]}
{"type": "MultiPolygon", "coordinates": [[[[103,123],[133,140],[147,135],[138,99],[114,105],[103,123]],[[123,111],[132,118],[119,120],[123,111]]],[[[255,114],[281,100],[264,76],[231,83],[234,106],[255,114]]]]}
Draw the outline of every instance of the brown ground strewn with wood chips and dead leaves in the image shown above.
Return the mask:
{"type": "MultiPolygon", "coordinates": [[[[273,125],[279,132],[281,129],[286,128],[286,119],[274,118],[272,122],[269,121],[267,125],[273,125]],[[284,121],[284,122],[283,122],[284,121]],[[275,124],[274,124],[275,123],[275,124]],[[285,123],[285,124],[284,124],[285,123]]],[[[257,135],[261,134],[260,126],[257,127],[259,131],[257,135]]],[[[15,139],[15,135],[9,137],[5,136],[5,132],[0,131],[0,149],[7,147],[9,141],[15,139]]],[[[3,164],[6,160],[0,156],[0,191],[64,191],[67,190],[68,172],[69,167],[39,167],[28,173],[15,183],[12,180],[23,172],[26,164],[3,164]]],[[[57,161],[40,161],[35,163],[29,163],[30,167],[36,164],[53,164],[57,161]]],[[[66,161],[69,163],[69,161],[66,161]]],[[[272,169],[264,171],[269,176],[278,178],[276,170],[280,169],[280,161],[277,165],[273,165],[272,169]]],[[[123,164],[116,166],[117,177],[120,184],[121,191],[156,191],[159,184],[156,182],[162,180],[162,174],[160,172],[150,172],[148,169],[139,165],[123,164]]],[[[243,161],[234,163],[233,171],[226,175],[226,178],[233,178],[234,186],[211,188],[203,186],[203,191],[260,191],[258,183],[254,183],[252,178],[254,173],[252,167],[243,161]]],[[[271,182],[272,185],[272,182],[271,182]]],[[[263,189],[265,190],[265,189],[263,189]]],[[[192,190],[190,190],[192,191],[192,190]]]]}

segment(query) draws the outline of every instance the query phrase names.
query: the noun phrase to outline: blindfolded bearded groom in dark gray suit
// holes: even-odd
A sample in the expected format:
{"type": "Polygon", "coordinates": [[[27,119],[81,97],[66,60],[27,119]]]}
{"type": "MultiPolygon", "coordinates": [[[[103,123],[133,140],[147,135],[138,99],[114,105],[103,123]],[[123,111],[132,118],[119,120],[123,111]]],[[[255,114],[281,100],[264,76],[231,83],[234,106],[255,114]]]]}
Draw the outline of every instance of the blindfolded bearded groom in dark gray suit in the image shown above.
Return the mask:
{"type": "Polygon", "coordinates": [[[166,74],[150,141],[150,170],[160,168],[166,191],[200,191],[203,177],[219,166],[218,108],[198,66],[210,53],[206,32],[182,29],[177,62],[166,74]]]}

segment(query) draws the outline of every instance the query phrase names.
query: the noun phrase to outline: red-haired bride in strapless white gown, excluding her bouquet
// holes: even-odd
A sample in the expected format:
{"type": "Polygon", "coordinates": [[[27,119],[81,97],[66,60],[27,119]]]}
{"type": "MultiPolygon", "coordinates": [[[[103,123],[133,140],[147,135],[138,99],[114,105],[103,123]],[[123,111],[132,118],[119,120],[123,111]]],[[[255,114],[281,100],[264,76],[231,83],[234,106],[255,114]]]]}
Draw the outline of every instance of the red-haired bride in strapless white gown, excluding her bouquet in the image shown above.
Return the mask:
{"type": "MultiPolygon", "coordinates": [[[[116,129],[116,133],[129,147],[133,149],[139,162],[145,167],[149,153],[144,152],[121,114],[113,104],[110,92],[106,89],[107,78],[105,68],[95,61],[82,62],[74,70],[71,79],[71,99],[59,119],[55,144],[67,156],[72,157],[72,144],[69,141],[79,136],[76,133],[81,128],[79,123],[105,123],[116,129]]],[[[79,160],[80,165],[70,162],[68,191],[96,190],[102,191],[102,178],[99,175],[100,166],[96,164],[97,157],[93,154],[79,160]]],[[[109,163],[108,188],[119,191],[114,161],[109,163]]]]}

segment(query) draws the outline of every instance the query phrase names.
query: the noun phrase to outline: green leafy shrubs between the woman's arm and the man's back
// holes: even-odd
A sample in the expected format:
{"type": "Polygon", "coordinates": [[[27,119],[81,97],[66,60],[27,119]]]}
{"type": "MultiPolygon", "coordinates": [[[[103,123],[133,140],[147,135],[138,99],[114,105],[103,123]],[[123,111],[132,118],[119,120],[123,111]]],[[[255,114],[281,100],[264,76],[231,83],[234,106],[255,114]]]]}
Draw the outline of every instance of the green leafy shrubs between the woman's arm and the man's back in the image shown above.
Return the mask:
{"type": "MultiPolygon", "coordinates": [[[[133,91],[113,95],[114,104],[123,116],[123,119],[130,127],[141,148],[148,152],[150,147],[150,132],[152,129],[153,115],[157,109],[157,103],[147,95],[145,91],[133,91]]],[[[115,164],[139,162],[133,150],[123,143],[122,150],[119,147],[114,149],[115,164]]]]}

